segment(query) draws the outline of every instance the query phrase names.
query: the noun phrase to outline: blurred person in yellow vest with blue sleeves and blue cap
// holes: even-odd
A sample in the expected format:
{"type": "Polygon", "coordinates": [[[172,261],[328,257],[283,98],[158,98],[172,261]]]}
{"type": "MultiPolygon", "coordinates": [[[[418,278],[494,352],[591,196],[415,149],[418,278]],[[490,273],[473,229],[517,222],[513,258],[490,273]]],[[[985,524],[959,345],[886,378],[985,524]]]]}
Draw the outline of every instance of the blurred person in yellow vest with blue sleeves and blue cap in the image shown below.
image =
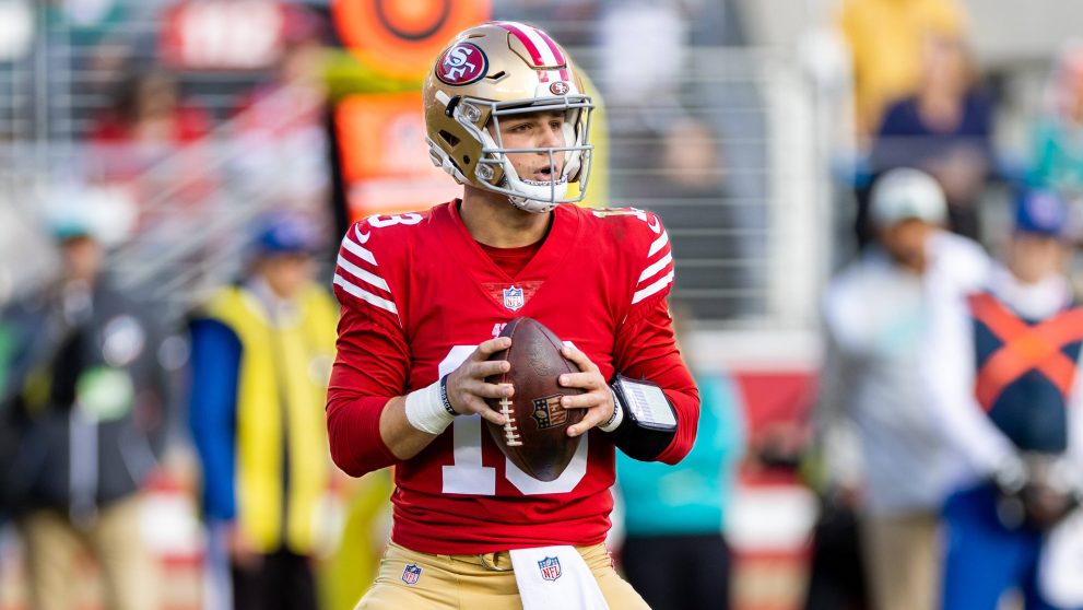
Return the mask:
{"type": "Polygon", "coordinates": [[[304,610],[317,608],[311,564],[330,525],[322,406],[338,309],[313,281],[315,227],[293,214],[261,224],[250,274],[191,324],[190,423],[233,607],[304,610]]]}

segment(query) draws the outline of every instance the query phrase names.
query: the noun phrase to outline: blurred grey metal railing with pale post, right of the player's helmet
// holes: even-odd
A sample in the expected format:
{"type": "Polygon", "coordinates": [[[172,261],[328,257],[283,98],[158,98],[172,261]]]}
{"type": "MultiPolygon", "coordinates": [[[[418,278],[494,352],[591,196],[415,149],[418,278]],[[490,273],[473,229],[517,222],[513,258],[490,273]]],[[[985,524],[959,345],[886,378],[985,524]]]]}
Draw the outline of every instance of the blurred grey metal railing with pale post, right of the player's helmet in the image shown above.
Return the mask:
{"type": "MultiPolygon", "coordinates": [[[[604,74],[597,50],[572,54],[604,74]]],[[[833,222],[815,92],[779,49],[694,47],[679,68],[673,91],[631,103],[599,79],[612,204],[662,218],[674,294],[706,328],[814,329],[833,222]]]]}

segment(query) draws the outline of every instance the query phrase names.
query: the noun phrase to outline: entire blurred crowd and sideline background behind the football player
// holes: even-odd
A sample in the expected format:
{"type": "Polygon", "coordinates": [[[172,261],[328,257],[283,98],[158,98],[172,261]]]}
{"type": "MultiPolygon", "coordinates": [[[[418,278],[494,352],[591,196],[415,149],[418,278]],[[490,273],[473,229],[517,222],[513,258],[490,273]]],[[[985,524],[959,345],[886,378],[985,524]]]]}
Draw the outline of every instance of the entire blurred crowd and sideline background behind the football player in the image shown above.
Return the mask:
{"type": "Polygon", "coordinates": [[[1083,608],[1083,7],[0,0],[0,610],[352,608],[390,482],[326,456],[329,273],[455,196],[420,84],[488,19],[673,244],[701,435],[620,462],[611,544],[652,607],[1083,608]]]}

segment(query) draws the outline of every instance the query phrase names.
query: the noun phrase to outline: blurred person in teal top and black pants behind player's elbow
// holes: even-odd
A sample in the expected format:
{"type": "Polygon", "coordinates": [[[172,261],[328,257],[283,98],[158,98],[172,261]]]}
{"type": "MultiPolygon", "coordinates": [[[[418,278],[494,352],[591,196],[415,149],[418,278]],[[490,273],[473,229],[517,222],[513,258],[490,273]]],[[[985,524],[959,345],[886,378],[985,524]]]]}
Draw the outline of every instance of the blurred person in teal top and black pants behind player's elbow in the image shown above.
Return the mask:
{"type": "MultiPolygon", "coordinates": [[[[673,308],[679,339],[687,329],[680,309],[673,308]]],[[[690,352],[682,353],[687,361],[690,352]]],[[[744,410],[730,377],[692,371],[699,432],[687,457],[673,467],[616,457],[624,502],[621,564],[654,610],[730,607],[732,561],[722,530],[744,449],[744,410]]]]}

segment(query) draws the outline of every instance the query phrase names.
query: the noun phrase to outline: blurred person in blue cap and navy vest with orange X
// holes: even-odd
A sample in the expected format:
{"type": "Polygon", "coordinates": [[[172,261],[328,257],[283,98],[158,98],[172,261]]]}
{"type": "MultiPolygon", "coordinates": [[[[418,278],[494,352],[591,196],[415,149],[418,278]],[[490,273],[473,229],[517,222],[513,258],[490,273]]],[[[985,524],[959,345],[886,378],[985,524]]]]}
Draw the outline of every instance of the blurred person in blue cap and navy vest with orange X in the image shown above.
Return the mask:
{"type": "Polygon", "coordinates": [[[944,508],[944,610],[997,608],[1012,589],[1027,610],[1058,608],[1038,566],[1083,493],[1083,307],[1064,273],[1066,223],[1056,195],[1023,192],[1005,266],[937,325],[929,374],[965,458],[944,508]]]}

